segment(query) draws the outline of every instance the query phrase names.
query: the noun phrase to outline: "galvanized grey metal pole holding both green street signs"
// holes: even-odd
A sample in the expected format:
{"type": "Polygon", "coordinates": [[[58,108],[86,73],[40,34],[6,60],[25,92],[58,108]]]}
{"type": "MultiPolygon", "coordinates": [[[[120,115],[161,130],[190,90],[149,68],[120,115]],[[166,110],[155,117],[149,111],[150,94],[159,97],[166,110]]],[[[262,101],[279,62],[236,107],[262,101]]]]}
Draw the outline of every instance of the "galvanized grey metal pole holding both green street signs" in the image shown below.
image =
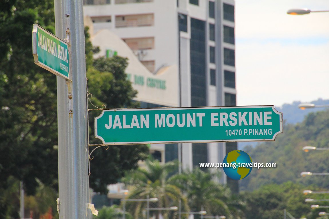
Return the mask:
{"type": "Polygon", "coordinates": [[[87,92],[82,0],[54,2],[56,35],[64,39],[69,28],[72,57],[70,87],[68,81],[57,77],[59,218],[87,219],[90,210],[87,210],[87,92]]]}

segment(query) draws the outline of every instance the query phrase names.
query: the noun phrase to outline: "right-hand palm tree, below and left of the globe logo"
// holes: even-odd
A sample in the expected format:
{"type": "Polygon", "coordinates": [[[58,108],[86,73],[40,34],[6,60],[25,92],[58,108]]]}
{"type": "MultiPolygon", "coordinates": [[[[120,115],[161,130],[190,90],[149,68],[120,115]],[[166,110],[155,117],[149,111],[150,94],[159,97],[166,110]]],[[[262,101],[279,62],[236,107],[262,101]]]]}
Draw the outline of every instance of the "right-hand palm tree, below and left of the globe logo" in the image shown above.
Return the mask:
{"type": "Polygon", "coordinates": [[[179,187],[187,195],[191,211],[203,207],[207,215],[225,215],[228,219],[239,218],[243,202],[232,199],[231,191],[215,181],[218,174],[194,168],[192,172],[174,175],[169,183],[179,187]]]}

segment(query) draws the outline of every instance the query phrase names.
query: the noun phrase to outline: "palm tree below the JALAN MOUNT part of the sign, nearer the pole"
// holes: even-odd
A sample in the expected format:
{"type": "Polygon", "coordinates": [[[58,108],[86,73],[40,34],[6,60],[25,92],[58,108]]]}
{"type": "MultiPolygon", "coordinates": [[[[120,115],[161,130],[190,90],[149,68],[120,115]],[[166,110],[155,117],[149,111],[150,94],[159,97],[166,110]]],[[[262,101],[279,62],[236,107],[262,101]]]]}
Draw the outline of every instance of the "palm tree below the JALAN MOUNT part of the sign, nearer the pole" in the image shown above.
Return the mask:
{"type": "MultiPolygon", "coordinates": [[[[145,167],[139,167],[133,170],[130,174],[122,179],[127,186],[132,186],[132,191],[129,192],[128,199],[146,199],[158,198],[159,201],[152,203],[152,208],[168,208],[178,206],[179,200],[182,201],[182,209],[188,211],[186,197],[183,196],[181,190],[172,184],[169,184],[168,174],[174,172],[178,168],[177,162],[168,162],[161,164],[159,161],[146,161],[145,167]]],[[[146,202],[127,202],[127,209],[135,218],[143,217],[143,210],[146,208],[146,202]]],[[[169,211],[154,211],[156,219],[159,218],[159,213],[162,213],[164,218],[168,218],[169,211]]],[[[152,213],[152,211],[151,211],[152,213]]],[[[171,215],[173,216],[173,215],[171,215]]]]}

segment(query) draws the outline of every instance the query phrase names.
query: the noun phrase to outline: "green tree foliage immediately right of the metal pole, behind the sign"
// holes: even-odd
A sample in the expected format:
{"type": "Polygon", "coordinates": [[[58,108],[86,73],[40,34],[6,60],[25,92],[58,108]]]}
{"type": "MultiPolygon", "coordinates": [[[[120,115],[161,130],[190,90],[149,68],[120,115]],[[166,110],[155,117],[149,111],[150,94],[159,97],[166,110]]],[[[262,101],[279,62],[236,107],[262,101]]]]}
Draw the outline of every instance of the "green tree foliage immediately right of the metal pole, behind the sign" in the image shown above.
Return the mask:
{"type": "MultiPolygon", "coordinates": [[[[85,32],[87,33],[87,32],[85,32]]],[[[86,34],[86,54],[97,51],[92,48],[86,34]]],[[[88,57],[88,55],[87,55],[88,57]]],[[[89,63],[89,61],[87,61],[89,63]]],[[[106,105],[107,108],[135,108],[139,102],[132,99],[137,91],[131,82],[126,80],[125,69],[128,59],[120,56],[112,58],[99,57],[92,64],[87,64],[88,92],[92,94],[91,102],[95,106],[106,105]]],[[[90,108],[95,108],[89,104],[90,108]]],[[[94,124],[94,117],[101,111],[89,111],[89,124],[94,124]]],[[[91,144],[100,144],[94,136],[94,127],[89,127],[91,144]]],[[[107,193],[107,185],[116,183],[124,176],[125,171],[136,169],[137,162],[147,158],[146,145],[111,145],[104,151],[97,149],[93,152],[95,159],[90,161],[90,187],[95,192],[107,193]]]]}

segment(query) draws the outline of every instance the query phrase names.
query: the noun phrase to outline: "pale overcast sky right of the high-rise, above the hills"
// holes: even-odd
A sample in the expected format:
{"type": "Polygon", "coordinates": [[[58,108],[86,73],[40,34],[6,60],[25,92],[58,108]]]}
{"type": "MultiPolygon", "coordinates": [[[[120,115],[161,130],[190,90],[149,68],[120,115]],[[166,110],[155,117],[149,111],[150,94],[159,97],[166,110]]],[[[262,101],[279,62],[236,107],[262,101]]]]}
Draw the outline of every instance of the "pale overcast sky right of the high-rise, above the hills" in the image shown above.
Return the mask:
{"type": "Polygon", "coordinates": [[[237,105],[329,99],[329,0],[235,0],[237,105]]]}

